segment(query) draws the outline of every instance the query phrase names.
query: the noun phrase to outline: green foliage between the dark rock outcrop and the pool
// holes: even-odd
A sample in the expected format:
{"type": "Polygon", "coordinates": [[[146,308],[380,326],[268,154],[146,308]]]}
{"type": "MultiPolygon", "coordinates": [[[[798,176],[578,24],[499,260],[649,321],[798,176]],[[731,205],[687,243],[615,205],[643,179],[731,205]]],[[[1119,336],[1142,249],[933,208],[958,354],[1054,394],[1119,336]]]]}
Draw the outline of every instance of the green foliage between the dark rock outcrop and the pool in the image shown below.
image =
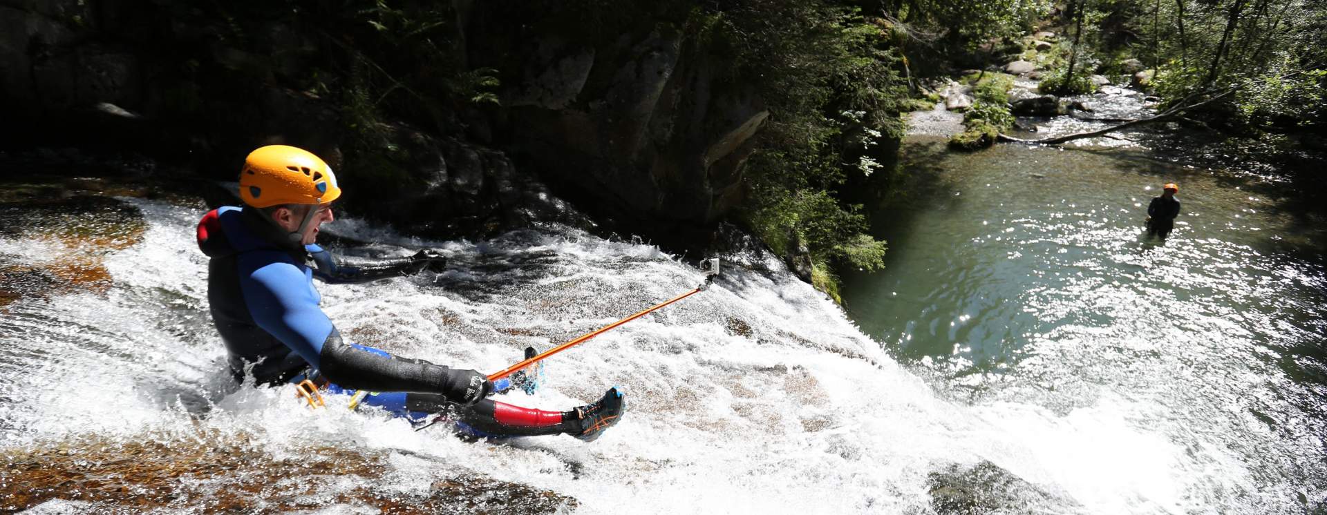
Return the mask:
{"type": "Polygon", "coordinates": [[[916,107],[896,71],[897,34],[856,9],[800,0],[739,3],[713,30],[731,41],[736,78],[771,113],[747,162],[742,218],[779,254],[803,244],[821,269],[835,259],[878,267],[884,244],[867,234],[860,207],[831,191],[849,172],[881,168],[861,151],[901,138],[898,113],[916,107]],[[849,163],[848,152],[860,158],[849,163]]]}

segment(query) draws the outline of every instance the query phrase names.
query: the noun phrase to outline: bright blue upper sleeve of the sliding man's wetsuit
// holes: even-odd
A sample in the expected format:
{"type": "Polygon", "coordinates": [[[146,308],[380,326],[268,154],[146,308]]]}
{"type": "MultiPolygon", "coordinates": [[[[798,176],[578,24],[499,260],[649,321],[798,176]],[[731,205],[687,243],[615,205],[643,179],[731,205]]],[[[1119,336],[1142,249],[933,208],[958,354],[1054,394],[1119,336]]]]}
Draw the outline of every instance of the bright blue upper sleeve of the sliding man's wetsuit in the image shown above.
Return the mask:
{"type": "Polygon", "coordinates": [[[240,291],[253,322],[304,357],[314,368],[334,327],[318,308],[308,278],[291,262],[272,262],[240,273],[240,291]]]}

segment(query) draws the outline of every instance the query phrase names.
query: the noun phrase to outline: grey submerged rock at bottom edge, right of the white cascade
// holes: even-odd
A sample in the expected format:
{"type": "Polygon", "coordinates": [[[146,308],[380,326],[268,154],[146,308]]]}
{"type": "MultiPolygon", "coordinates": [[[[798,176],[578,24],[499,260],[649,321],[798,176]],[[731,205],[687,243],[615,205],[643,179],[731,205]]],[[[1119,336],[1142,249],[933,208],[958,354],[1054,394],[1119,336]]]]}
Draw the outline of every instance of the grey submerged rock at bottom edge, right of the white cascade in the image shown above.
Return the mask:
{"type": "Polygon", "coordinates": [[[1072,499],[1048,492],[995,463],[951,465],[928,475],[937,514],[1074,512],[1072,499]]]}

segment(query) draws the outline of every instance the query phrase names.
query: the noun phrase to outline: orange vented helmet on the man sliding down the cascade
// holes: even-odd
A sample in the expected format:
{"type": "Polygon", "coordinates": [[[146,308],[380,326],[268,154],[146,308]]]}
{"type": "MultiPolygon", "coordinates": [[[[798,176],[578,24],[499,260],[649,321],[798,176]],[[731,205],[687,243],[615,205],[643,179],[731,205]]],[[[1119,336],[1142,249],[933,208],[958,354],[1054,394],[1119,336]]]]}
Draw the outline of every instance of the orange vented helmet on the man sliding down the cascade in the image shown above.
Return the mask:
{"type": "Polygon", "coordinates": [[[332,167],[304,148],[259,147],[244,158],[240,199],[255,208],[280,204],[330,204],[341,196],[332,167]]]}

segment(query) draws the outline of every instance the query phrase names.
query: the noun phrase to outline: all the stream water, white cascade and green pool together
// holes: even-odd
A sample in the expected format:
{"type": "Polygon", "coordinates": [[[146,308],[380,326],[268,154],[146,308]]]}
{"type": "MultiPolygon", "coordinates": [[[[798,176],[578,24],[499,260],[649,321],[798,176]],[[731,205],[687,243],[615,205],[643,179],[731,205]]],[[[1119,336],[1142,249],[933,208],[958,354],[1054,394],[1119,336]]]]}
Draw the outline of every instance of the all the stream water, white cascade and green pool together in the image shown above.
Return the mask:
{"type": "MultiPolygon", "coordinates": [[[[552,357],[535,396],[504,396],[565,409],[624,387],[625,418],[593,444],[471,442],[346,398],[308,409],[291,388],[234,385],[194,245],[199,201],[24,211],[32,230],[0,228],[0,511],[1323,502],[1320,224],[1141,151],[940,144],[906,147],[925,180],[877,213],[893,228],[889,266],[847,278],[851,320],[779,261],[739,253],[710,290],[552,357]],[[1180,181],[1184,212],[1160,244],[1140,224],[1166,180],[1180,181]],[[96,229],[106,213],[123,230],[96,229]]],[[[556,225],[474,242],[357,220],[329,232],[370,242],[341,249],[356,256],[450,256],[443,274],[320,285],[344,335],[480,371],[702,279],[653,246],[556,225]]]]}

